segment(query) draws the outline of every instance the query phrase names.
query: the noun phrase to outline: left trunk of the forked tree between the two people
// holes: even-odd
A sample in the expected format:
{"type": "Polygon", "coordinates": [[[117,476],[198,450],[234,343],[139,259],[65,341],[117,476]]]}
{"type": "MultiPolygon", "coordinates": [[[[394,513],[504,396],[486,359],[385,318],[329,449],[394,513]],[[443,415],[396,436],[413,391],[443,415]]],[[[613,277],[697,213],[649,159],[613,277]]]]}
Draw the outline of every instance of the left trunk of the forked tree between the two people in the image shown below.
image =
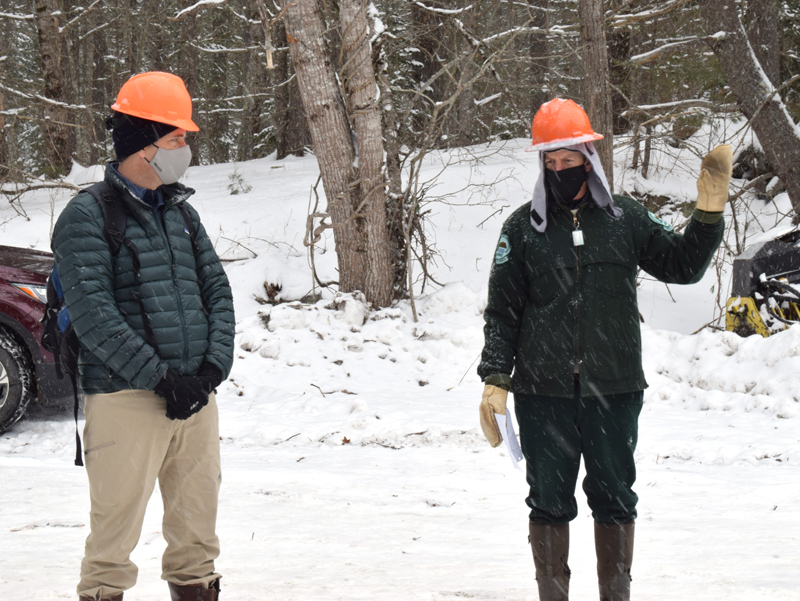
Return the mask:
{"type": "Polygon", "coordinates": [[[363,290],[367,261],[360,219],[353,214],[360,196],[353,166],[356,155],[336,74],[325,47],[322,15],[316,0],[284,0],[286,33],[314,152],[333,221],[339,289],[363,290]]]}

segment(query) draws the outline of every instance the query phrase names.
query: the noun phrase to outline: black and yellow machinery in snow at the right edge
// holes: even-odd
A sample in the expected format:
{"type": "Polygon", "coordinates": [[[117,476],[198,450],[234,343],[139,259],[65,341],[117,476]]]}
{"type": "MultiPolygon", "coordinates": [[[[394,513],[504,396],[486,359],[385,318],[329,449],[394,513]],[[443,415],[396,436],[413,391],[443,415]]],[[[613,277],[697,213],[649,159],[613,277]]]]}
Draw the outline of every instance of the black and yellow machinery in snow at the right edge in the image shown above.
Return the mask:
{"type": "Polygon", "coordinates": [[[800,323],[800,231],[753,245],[733,262],[725,329],[764,337],[800,323]]]}

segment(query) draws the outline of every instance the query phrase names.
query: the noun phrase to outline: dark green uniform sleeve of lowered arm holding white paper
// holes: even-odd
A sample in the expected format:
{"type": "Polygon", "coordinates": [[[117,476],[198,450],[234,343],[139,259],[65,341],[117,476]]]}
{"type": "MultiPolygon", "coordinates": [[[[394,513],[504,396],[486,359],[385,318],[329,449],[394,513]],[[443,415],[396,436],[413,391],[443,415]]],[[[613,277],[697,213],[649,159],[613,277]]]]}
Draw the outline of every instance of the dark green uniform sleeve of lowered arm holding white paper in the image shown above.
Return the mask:
{"type": "Polygon", "coordinates": [[[515,235],[508,222],[503,235],[510,243],[510,253],[505,261],[495,257],[489,275],[489,302],[483,313],[484,345],[478,375],[487,384],[509,389],[517,339],[528,304],[528,285],[522,236],[515,235]]]}

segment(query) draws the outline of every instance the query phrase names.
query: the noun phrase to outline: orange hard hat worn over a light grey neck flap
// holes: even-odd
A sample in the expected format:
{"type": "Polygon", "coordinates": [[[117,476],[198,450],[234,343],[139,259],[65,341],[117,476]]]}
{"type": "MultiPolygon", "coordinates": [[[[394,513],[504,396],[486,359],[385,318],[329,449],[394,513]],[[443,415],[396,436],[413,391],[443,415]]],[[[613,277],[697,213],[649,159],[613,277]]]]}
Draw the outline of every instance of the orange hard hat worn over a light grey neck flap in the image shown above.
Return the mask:
{"type": "Polygon", "coordinates": [[[531,124],[533,145],[528,150],[547,151],[573,144],[600,140],[592,130],[589,116],[572,100],[554,98],[536,111],[531,124]]]}

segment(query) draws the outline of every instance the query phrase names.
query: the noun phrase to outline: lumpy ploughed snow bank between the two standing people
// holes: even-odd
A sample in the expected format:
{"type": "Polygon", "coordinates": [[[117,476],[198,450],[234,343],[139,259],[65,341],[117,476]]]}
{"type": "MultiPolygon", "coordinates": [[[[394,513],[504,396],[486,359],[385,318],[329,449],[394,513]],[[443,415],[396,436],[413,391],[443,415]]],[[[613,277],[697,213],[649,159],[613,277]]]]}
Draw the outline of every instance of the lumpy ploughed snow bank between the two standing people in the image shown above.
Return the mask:
{"type": "Polygon", "coordinates": [[[479,306],[452,285],[420,300],[416,324],[408,303],[369,312],[360,295],[263,307],[237,327],[226,434],[244,446],[479,443],[471,419],[443,410],[474,404],[479,306]]]}

